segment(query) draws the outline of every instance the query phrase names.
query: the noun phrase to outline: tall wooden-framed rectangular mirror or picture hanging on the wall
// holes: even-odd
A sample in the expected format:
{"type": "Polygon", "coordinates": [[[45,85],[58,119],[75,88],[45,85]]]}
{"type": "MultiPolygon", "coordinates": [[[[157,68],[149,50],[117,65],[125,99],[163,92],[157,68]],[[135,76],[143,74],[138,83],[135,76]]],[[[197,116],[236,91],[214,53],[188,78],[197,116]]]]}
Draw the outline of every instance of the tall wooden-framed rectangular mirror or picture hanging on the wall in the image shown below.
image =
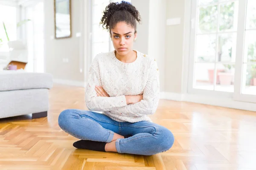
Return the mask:
{"type": "Polygon", "coordinates": [[[71,37],[71,0],[54,0],[55,39],[71,37]]]}

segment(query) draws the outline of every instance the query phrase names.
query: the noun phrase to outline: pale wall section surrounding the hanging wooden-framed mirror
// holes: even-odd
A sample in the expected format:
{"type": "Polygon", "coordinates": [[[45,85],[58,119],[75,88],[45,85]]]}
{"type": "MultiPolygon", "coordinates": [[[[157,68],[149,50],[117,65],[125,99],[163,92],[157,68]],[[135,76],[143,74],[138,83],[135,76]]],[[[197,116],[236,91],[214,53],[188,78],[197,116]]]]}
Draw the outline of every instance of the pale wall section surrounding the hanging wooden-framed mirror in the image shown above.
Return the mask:
{"type": "MultiPolygon", "coordinates": [[[[86,53],[86,49],[81,45],[81,38],[76,37],[77,32],[83,32],[83,11],[81,6],[85,6],[83,0],[71,1],[72,17],[72,37],[67,39],[51,39],[54,37],[54,2],[44,0],[45,11],[45,72],[53,75],[54,79],[84,82],[84,70],[80,72],[80,67],[84,68],[81,60],[86,53]],[[69,62],[63,62],[67,58],[69,62]],[[82,64],[81,64],[82,63],[82,64]]],[[[87,7],[84,9],[86,11],[87,7]]]]}

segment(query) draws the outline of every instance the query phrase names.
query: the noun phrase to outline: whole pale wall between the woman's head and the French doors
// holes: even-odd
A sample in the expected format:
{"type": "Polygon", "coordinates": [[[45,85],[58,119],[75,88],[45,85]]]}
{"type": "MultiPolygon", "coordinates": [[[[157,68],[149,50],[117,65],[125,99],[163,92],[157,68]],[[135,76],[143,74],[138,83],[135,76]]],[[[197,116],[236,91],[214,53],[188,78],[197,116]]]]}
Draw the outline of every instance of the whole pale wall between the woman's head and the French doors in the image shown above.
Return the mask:
{"type": "Polygon", "coordinates": [[[184,0],[132,0],[140,12],[134,48],[154,57],[160,71],[160,91],[181,93],[183,77],[184,0]],[[166,19],[180,24],[166,26],[166,19]],[[146,21],[146,22],[145,22],[146,21]]]}

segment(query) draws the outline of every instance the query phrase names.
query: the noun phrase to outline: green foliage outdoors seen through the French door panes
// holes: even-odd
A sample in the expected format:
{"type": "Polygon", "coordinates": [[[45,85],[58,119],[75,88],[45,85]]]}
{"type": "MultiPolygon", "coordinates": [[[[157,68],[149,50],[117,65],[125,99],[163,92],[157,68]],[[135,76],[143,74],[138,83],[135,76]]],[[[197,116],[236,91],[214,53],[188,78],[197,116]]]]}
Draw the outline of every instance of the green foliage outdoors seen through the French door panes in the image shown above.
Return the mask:
{"type": "MultiPolygon", "coordinates": [[[[208,0],[209,1],[209,0],[208,0]]],[[[212,2],[216,2],[212,0],[212,2]]],[[[199,7],[199,21],[198,21],[198,32],[200,33],[215,33],[217,29],[219,32],[233,30],[236,28],[234,25],[234,12],[235,12],[235,2],[222,3],[220,5],[220,16],[219,16],[219,26],[217,26],[218,20],[218,6],[200,6],[199,7]],[[217,28],[218,27],[218,28],[217,28]]],[[[251,6],[248,4],[248,8],[250,10],[256,11],[255,6],[251,6]]],[[[247,19],[247,27],[256,28],[256,13],[252,13],[252,15],[247,16],[250,17],[247,19]]],[[[236,31],[236,29],[235,29],[236,31]]],[[[250,36],[249,36],[250,37],[250,36]]],[[[252,38],[252,37],[250,37],[252,38]]],[[[232,40],[232,36],[227,36],[227,34],[220,34],[218,36],[218,41],[212,41],[211,44],[216,47],[216,43],[218,43],[218,62],[221,62],[221,57],[223,55],[223,50],[228,50],[229,57],[232,57],[232,47],[229,49],[223,49],[223,46],[228,41],[236,41],[232,40]],[[224,36],[225,35],[225,36],[224,36]]],[[[244,57],[247,57],[248,62],[256,62],[256,39],[255,42],[251,43],[247,47],[247,54],[244,57]]],[[[248,41],[247,39],[245,41],[248,41]]],[[[202,61],[209,61],[207,57],[198,56],[198,59],[202,61]]],[[[231,61],[231,60],[230,60],[231,61]]],[[[234,65],[224,65],[224,67],[228,70],[234,67],[234,65]]],[[[247,68],[247,85],[251,84],[251,79],[256,77],[256,65],[248,65],[247,68]]]]}

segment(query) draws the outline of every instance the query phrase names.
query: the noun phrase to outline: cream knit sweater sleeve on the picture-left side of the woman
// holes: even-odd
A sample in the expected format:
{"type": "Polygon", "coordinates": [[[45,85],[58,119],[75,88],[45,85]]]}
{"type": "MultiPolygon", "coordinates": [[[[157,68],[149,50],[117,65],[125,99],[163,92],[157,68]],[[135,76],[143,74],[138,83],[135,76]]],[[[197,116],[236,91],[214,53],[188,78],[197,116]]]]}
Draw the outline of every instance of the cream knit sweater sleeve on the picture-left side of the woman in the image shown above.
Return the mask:
{"type": "Polygon", "coordinates": [[[89,69],[89,77],[85,91],[85,102],[90,111],[112,111],[126,106],[125,95],[102,97],[97,96],[95,86],[102,86],[99,74],[98,56],[93,59],[89,69]]]}

